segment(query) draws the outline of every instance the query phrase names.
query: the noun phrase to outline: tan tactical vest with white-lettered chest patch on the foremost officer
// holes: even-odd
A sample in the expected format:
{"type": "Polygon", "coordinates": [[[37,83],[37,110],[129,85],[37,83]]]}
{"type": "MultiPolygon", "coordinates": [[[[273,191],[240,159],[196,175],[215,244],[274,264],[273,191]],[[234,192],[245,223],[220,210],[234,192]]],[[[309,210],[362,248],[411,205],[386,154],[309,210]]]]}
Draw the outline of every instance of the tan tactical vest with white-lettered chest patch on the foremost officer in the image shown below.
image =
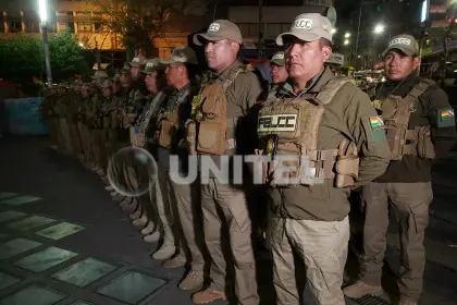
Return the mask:
{"type": "Polygon", "coordinates": [[[336,187],[354,185],[359,166],[356,144],[344,138],[337,149],[318,149],[318,130],[325,106],[349,82],[334,77],[313,97],[275,98],[263,103],[257,132],[264,145],[256,154],[271,158],[262,163],[264,183],[297,186],[333,179],[336,187]],[[283,167],[287,171],[281,170],[283,167]]]}

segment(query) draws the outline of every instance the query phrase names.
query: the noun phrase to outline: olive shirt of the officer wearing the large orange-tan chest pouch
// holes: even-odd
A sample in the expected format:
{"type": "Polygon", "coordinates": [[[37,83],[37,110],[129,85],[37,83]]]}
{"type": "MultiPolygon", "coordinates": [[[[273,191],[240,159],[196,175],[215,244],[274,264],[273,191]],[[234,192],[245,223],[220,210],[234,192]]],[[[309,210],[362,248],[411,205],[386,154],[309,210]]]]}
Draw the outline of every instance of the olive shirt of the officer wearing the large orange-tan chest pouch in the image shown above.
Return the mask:
{"type": "MultiPolygon", "coordinates": [[[[240,60],[233,62],[221,74],[211,72],[208,80],[203,81],[201,86],[215,83],[223,83],[230,75],[231,71],[242,68],[244,64],[240,60]]],[[[202,90],[200,90],[202,91],[202,90]]],[[[259,100],[263,98],[267,93],[265,84],[262,78],[252,72],[239,73],[233,83],[226,88],[226,111],[227,118],[238,119],[235,137],[236,137],[236,154],[237,155],[251,155],[256,148],[254,144],[257,141],[256,125],[257,121],[252,121],[251,108],[259,100]]],[[[221,166],[219,156],[211,156],[217,166],[221,166]]],[[[200,163],[200,162],[199,162],[200,163]]]]}

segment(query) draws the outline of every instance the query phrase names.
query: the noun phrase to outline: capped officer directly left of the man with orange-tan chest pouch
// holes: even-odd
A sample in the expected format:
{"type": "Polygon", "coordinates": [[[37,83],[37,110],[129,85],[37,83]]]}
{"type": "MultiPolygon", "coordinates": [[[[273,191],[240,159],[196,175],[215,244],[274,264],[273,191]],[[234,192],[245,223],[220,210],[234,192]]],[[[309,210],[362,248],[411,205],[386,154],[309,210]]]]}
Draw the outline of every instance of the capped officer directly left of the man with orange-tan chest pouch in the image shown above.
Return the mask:
{"type": "Polygon", "coordinates": [[[185,122],[190,119],[192,99],[198,94],[196,68],[198,64],[195,51],[189,47],[177,47],[173,50],[170,59],[162,60],[166,64],[166,80],[174,88],[164,107],[161,118],[158,156],[160,166],[171,174],[170,185],[174,192],[171,196],[173,205],[174,227],[180,239],[178,254],[173,260],[165,261],[164,267],[177,267],[186,263],[186,253],[190,258],[190,270],[180,283],[182,290],[196,290],[203,284],[205,259],[201,249],[203,240],[196,232],[201,231],[200,221],[195,217],[201,215],[197,209],[200,197],[198,196],[199,184],[195,181],[190,184],[180,183],[173,176],[186,176],[188,169],[188,150],[186,145],[185,122]],[[168,129],[174,129],[174,136],[166,138],[168,129]],[[178,158],[177,167],[171,167],[170,155],[178,158]],[[177,175],[176,175],[177,173],[177,175]]]}

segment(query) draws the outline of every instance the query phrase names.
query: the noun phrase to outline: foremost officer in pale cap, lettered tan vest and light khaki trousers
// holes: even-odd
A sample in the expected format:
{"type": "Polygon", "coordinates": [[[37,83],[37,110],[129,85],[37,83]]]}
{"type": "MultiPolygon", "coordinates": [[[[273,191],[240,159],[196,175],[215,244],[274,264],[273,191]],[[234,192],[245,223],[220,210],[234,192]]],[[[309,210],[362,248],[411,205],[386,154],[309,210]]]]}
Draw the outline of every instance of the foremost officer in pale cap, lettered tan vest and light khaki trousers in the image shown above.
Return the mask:
{"type": "Polygon", "coordinates": [[[300,14],[276,38],[285,47],[289,81],[259,113],[257,152],[274,160],[263,163],[263,179],[271,186],[267,239],[280,305],[299,304],[294,254],[306,265],[317,304],[345,304],[347,197],[388,163],[384,133],[370,126],[370,118],[378,117],[368,96],[324,68],[332,53],[331,29],[329,19],[300,14]]]}

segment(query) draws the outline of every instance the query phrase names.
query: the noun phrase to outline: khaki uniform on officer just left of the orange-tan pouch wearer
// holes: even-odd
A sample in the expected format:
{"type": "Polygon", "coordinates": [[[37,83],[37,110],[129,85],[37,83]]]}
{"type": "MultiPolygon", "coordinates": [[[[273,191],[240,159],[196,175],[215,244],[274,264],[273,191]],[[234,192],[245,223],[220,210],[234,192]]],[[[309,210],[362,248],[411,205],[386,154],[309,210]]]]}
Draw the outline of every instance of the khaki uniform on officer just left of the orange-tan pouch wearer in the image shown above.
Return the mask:
{"type": "Polygon", "coordinates": [[[168,186],[172,191],[168,202],[170,205],[166,218],[173,219],[176,232],[176,246],[180,246],[180,255],[185,260],[187,256],[192,258],[190,266],[193,271],[203,271],[205,259],[201,252],[203,248],[203,240],[196,234],[202,230],[200,222],[197,221],[197,205],[200,202],[198,196],[198,182],[190,184],[175,183],[169,174],[185,176],[188,168],[188,151],[185,145],[185,125],[184,123],[190,118],[192,98],[196,95],[198,88],[188,83],[183,88],[175,90],[168,98],[161,113],[159,114],[158,124],[158,158],[159,168],[164,172],[159,179],[164,179],[168,186]],[[173,136],[170,136],[170,127],[174,130],[173,136]],[[176,155],[180,158],[177,169],[172,171],[170,168],[170,156],[176,155]]]}

